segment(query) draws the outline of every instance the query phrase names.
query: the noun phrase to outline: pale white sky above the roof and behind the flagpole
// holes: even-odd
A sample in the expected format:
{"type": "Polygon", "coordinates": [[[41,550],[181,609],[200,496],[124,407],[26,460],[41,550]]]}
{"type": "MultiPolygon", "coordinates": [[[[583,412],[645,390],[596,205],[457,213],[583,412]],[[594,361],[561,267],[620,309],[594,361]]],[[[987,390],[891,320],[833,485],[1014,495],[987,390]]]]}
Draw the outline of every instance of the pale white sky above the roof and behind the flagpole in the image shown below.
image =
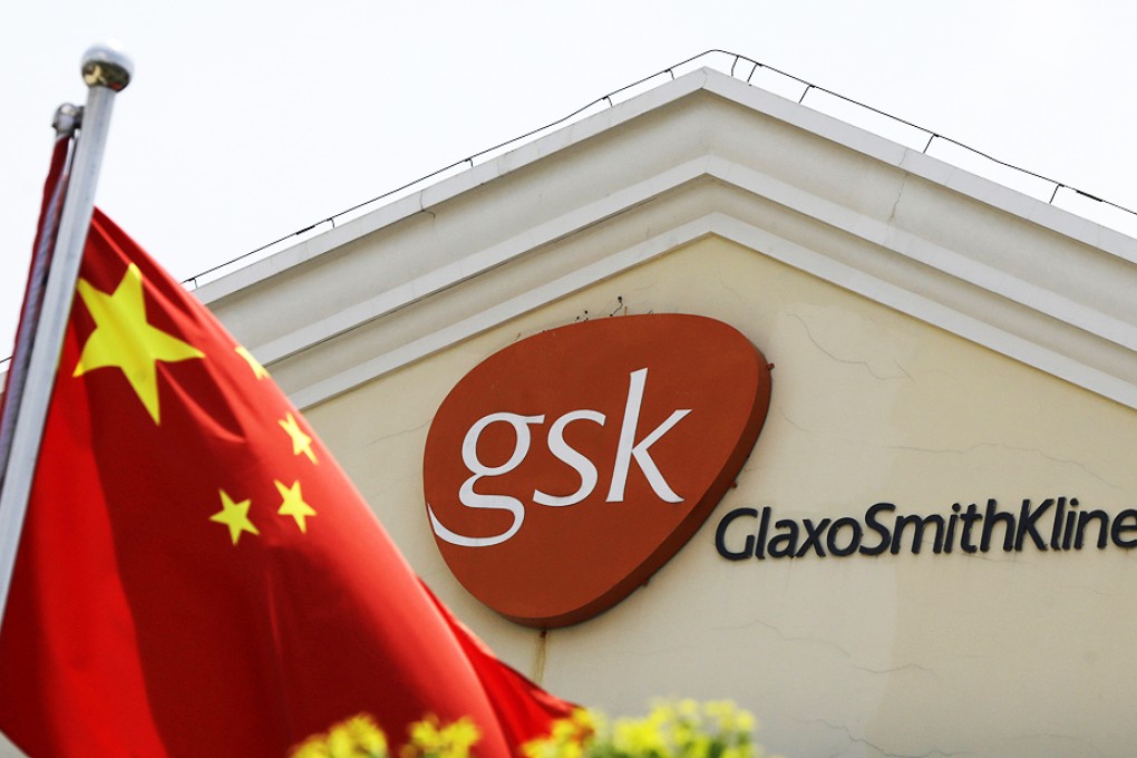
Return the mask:
{"type": "MultiPolygon", "coordinates": [[[[135,63],[98,205],[189,278],[709,48],[1137,208],[1134,28],[1126,0],[17,2],[0,28],[15,53],[0,107],[0,357],[51,117],[85,99],[78,60],[96,42],[118,40],[135,63]]],[[[1105,218],[1137,235],[1134,219],[1105,218]]]]}

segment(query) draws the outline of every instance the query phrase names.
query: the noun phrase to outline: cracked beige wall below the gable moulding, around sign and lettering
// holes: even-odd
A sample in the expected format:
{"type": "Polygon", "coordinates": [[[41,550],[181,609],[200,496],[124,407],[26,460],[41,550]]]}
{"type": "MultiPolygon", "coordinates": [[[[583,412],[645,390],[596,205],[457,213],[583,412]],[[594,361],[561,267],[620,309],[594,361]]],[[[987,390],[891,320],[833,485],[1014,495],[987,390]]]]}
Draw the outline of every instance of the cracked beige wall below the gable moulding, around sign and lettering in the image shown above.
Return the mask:
{"type": "MultiPolygon", "coordinates": [[[[366,357],[358,357],[360,360],[366,357]]],[[[731,563],[732,508],[861,516],[878,501],[1077,497],[1137,507],[1137,413],[720,239],[652,263],[308,409],[412,565],[504,658],[609,713],[729,697],[796,756],[1121,756],[1137,699],[1137,553],[852,556],[731,563]],[[732,324],[775,365],[765,430],[704,528],[650,583],[542,642],[473,600],[434,548],[422,451],[484,357],[540,330],[629,313],[732,324]]]]}

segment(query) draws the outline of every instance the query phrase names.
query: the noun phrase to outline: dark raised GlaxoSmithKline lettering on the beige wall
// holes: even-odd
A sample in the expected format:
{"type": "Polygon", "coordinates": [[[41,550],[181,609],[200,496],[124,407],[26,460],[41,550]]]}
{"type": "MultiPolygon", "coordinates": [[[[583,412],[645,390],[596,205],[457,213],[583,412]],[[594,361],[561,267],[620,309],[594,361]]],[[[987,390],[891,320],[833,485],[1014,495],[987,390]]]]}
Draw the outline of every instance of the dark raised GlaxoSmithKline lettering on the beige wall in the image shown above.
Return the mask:
{"type": "Polygon", "coordinates": [[[1081,550],[1137,548],[1137,509],[1115,515],[1082,510],[1078,498],[1023,500],[1015,510],[1002,510],[990,499],[952,505],[951,514],[901,515],[890,502],[878,502],[856,518],[778,518],[773,509],[736,508],[715,530],[719,555],[729,560],[747,558],[805,558],[815,556],[879,556],[902,551],[1005,552],[1034,549],[1081,550]]]}

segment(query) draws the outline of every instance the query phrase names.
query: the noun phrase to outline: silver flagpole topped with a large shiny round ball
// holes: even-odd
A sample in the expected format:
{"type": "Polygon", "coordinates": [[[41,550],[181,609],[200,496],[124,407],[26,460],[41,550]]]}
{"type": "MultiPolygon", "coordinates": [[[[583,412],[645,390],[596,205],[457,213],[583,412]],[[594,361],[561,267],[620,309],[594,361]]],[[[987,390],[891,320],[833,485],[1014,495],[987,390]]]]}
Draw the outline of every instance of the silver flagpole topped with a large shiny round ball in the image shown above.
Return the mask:
{"type": "Polygon", "coordinates": [[[0,624],[8,605],[19,535],[43,438],[43,424],[55,385],[59,351],[70,315],[86,233],[94,209],[94,189],[110,127],[115,95],[130,84],[134,65],[121,50],[96,45],[83,56],[82,74],[88,85],[80,136],[70,166],[70,178],[59,217],[51,268],[43,292],[39,323],[18,401],[11,448],[0,490],[0,624]]]}

